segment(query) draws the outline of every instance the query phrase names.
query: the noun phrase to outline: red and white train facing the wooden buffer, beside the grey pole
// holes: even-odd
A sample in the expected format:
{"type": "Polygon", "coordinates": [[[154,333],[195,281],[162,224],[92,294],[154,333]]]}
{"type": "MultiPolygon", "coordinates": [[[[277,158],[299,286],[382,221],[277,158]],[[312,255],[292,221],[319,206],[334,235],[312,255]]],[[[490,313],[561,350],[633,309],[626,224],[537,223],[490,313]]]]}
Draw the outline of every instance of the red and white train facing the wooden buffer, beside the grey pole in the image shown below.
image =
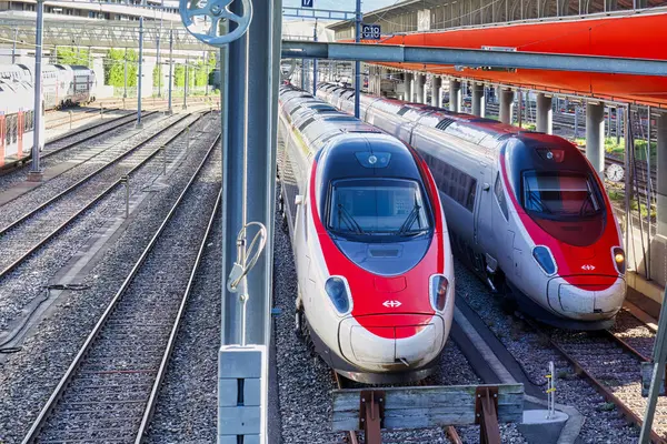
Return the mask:
{"type": "Polygon", "coordinates": [[[278,138],[297,331],[348,379],[426,377],[449,335],[455,295],[428,167],[396,138],[291,87],[280,89],[278,138]]]}

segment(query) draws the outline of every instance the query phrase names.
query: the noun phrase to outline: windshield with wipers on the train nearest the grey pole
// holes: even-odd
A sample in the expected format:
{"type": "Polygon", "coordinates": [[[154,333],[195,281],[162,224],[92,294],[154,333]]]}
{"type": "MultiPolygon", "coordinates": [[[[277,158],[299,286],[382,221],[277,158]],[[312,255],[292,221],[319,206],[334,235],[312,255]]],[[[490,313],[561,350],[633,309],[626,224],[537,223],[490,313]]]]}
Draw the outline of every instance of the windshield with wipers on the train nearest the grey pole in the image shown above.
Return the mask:
{"type": "Polygon", "coordinates": [[[430,232],[421,188],[411,180],[338,180],[331,185],[329,202],[328,229],[344,238],[406,238],[430,232]]]}

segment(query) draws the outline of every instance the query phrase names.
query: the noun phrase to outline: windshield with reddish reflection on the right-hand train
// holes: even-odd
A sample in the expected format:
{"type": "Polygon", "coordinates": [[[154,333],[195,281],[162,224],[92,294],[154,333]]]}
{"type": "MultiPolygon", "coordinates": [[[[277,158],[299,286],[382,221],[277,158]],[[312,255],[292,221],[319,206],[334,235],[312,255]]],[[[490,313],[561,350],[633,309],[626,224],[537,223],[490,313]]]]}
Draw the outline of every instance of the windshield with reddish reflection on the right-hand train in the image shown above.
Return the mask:
{"type": "Polygon", "coordinates": [[[569,172],[524,173],[524,208],[547,219],[600,213],[597,186],[588,175],[569,172]]]}

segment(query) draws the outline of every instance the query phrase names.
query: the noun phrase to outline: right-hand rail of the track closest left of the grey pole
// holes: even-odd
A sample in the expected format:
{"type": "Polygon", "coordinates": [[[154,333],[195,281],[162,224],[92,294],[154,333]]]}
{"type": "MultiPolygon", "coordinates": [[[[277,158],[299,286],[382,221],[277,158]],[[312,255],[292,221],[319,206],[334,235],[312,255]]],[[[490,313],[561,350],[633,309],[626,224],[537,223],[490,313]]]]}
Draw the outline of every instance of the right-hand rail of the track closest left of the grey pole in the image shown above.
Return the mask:
{"type": "Polygon", "coordinates": [[[169,340],[167,341],[167,347],[165,350],[165,355],[162,356],[162,361],[160,362],[160,367],[158,369],[158,373],[156,376],[156,381],[153,383],[152,390],[150,392],[150,397],[148,398],[148,404],[143,410],[143,416],[141,417],[141,424],[139,425],[139,431],[137,432],[137,437],[135,440],[135,444],[141,444],[143,441],[143,435],[148,431],[148,426],[150,425],[150,421],[152,418],[152,414],[155,412],[158,394],[160,392],[160,386],[162,385],[162,381],[165,380],[165,375],[167,374],[167,367],[169,365],[169,360],[171,359],[171,353],[173,351],[173,345],[176,343],[176,336],[178,335],[178,331],[180,327],[180,323],[186,311],[186,306],[188,304],[188,300],[190,299],[190,292],[192,290],[192,285],[195,283],[195,279],[197,272],[199,271],[199,264],[201,262],[201,258],[203,256],[203,250],[206,249],[207,241],[209,239],[209,234],[213,226],[213,222],[216,221],[216,215],[218,214],[218,209],[220,203],[222,202],[222,190],[218,192],[218,198],[216,199],[216,205],[213,206],[213,211],[211,212],[211,216],[209,218],[209,223],[206,228],[206,232],[203,233],[203,239],[199,244],[199,251],[197,252],[197,258],[195,259],[195,265],[192,266],[192,271],[190,272],[190,279],[188,280],[188,286],[183,292],[183,297],[181,300],[180,306],[178,309],[178,313],[176,315],[176,320],[173,321],[173,326],[171,327],[171,333],[169,334],[169,340]]]}

